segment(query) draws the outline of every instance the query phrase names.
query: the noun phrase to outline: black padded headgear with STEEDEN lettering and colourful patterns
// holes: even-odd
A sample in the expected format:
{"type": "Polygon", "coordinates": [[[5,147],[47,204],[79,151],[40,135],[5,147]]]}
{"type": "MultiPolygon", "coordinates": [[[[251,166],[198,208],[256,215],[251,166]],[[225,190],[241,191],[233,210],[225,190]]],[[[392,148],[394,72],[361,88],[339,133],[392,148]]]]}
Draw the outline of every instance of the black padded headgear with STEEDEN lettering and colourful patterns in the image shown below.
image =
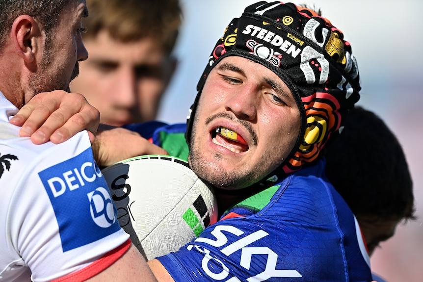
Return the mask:
{"type": "Polygon", "coordinates": [[[214,47],[187,120],[188,145],[207,76],[228,56],[244,57],[272,70],[290,88],[300,110],[296,145],[262,185],[315,161],[330,136],[342,127],[347,110],[360,98],[357,62],[341,30],[308,8],[260,1],[232,20],[214,47]]]}

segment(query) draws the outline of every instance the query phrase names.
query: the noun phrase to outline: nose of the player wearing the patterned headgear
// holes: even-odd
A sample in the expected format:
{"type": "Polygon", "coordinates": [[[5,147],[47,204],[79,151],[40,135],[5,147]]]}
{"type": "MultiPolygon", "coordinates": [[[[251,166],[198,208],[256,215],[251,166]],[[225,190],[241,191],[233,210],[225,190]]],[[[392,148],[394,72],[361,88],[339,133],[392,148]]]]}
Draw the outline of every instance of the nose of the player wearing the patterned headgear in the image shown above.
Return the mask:
{"type": "Polygon", "coordinates": [[[253,121],[257,117],[259,93],[252,84],[244,84],[238,88],[225,102],[225,108],[232,111],[238,119],[253,121]]]}

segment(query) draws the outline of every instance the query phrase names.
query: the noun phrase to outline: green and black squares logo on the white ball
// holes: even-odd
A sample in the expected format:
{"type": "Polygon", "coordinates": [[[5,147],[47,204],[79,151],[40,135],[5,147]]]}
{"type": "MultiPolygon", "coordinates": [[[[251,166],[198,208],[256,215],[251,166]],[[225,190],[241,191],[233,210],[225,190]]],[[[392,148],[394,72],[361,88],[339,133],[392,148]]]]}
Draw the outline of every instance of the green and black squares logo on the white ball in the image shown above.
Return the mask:
{"type": "Polygon", "coordinates": [[[203,230],[210,224],[210,216],[207,210],[207,205],[204,202],[203,197],[200,195],[192,203],[193,209],[188,208],[185,213],[182,215],[182,218],[185,220],[186,224],[192,229],[195,236],[198,237],[203,230]],[[203,223],[203,225],[201,224],[203,223]]]}

